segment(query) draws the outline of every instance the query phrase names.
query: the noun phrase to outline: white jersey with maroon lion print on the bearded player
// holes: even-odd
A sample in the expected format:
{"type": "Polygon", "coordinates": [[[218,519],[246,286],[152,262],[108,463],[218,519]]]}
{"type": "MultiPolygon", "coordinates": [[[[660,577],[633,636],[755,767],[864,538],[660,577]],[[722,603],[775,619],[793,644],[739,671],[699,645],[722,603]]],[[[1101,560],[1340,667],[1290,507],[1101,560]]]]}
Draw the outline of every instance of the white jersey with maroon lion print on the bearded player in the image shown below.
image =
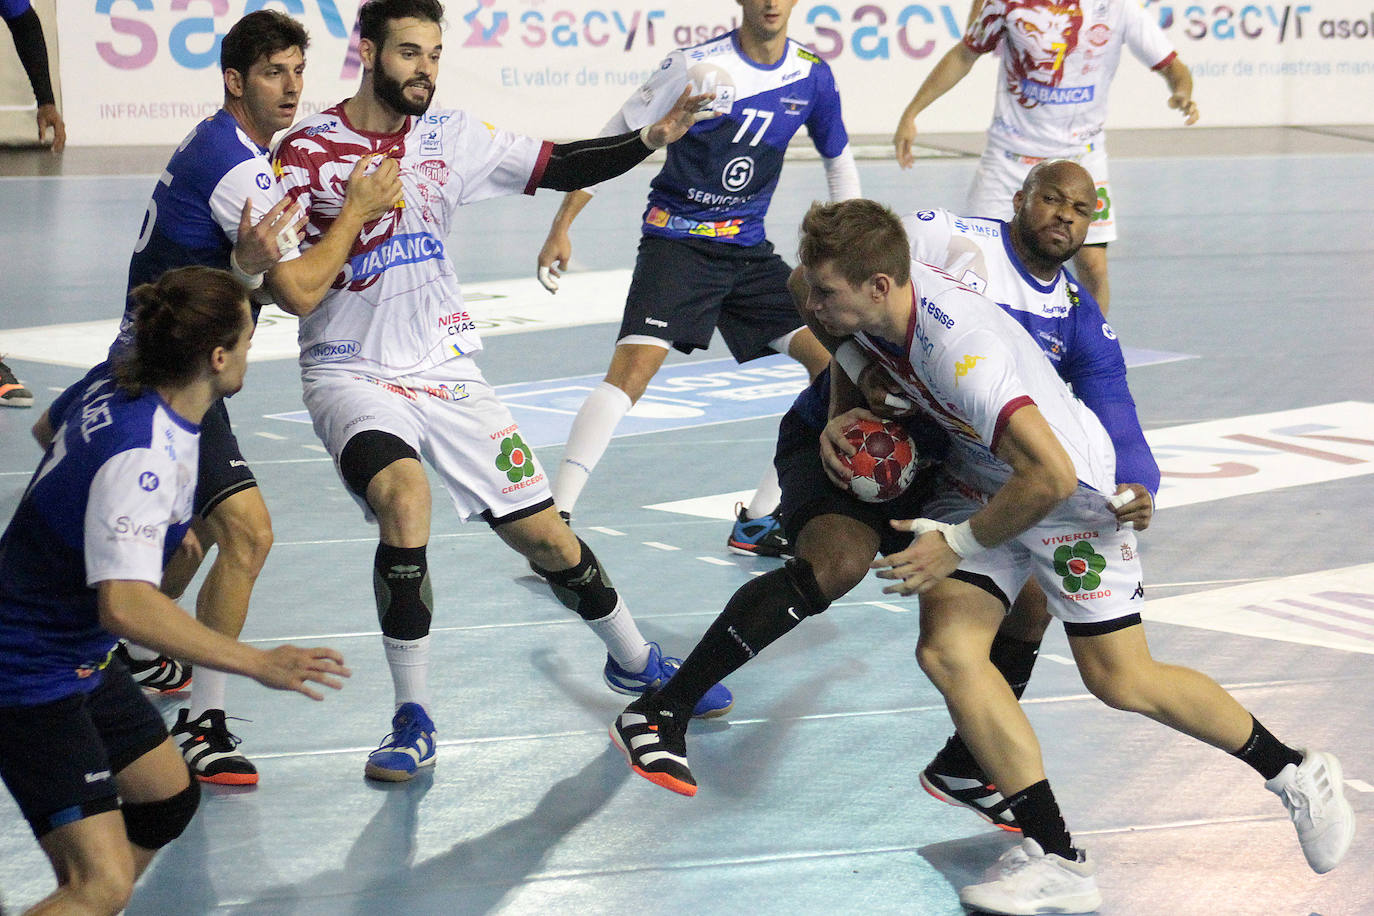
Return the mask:
{"type": "Polygon", "coordinates": [[[404,188],[401,205],[364,228],[334,288],[301,320],[301,368],[335,364],[396,379],[477,353],[477,324],[444,249],[453,211],[533,194],[551,148],[458,110],[407,118],[387,135],[354,128],[344,104],[297,124],[278,146],[276,166],[309,214],[305,247],[338,217],[360,157],[397,159],[404,188]]]}

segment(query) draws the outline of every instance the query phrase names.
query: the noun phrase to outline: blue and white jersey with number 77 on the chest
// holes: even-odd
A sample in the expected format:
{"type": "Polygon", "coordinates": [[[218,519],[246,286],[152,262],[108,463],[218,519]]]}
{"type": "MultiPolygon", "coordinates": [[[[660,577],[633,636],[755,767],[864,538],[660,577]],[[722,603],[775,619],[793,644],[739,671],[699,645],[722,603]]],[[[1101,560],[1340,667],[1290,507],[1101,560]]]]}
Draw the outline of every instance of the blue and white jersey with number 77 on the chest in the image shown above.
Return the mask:
{"type": "Polygon", "coordinates": [[[721,114],[668,147],[668,162],[650,184],[644,233],[757,244],[797,130],[805,125],[827,159],[849,146],[834,76],[791,38],[778,63],[756,63],[741,51],[738,33],[730,32],[669,54],[602,136],[654,124],[688,82],[694,95],[714,92],[712,107],[721,114]]]}

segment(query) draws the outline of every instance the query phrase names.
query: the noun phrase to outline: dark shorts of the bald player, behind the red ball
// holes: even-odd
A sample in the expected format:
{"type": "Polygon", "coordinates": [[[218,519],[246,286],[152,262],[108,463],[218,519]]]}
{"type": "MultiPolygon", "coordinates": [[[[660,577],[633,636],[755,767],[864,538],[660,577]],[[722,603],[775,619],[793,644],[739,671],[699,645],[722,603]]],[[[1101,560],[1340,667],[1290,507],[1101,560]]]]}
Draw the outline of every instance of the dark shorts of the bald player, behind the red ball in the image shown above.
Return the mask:
{"type": "MultiPolygon", "coordinates": [[[[918,435],[916,448],[922,455],[932,456],[938,449],[943,455],[943,435],[918,435]]],[[[878,534],[878,553],[886,556],[911,545],[911,533],[899,531],[888,522],[890,519],[912,519],[922,516],[922,507],[934,490],[938,464],[918,472],[907,492],[886,503],[864,503],[849,490],[842,490],[826,477],[820,463],[820,430],[807,424],[796,411],[787,411],[778,426],[778,450],[774,466],[778,468],[778,483],[782,486],[782,527],[790,544],[801,538],[801,529],[818,515],[842,515],[861,522],[878,534]]]]}

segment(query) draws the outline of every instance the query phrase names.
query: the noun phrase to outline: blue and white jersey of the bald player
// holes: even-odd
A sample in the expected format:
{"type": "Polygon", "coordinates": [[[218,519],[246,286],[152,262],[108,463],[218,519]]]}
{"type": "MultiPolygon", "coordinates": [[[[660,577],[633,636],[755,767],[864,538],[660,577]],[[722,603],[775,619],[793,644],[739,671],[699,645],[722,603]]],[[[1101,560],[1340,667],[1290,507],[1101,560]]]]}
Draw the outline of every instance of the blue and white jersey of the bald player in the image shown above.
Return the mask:
{"type": "Polygon", "coordinates": [[[901,225],[912,258],[987,295],[1040,345],[1059,378],[1112,437],[1117,483],[1140,483],[1156,493],[1160,466],[1127,387],[1121,342],[1092,294],[1062,266],[1048,283],[1037,280],[1017,257],[1010,227],[999,220],[916,210],[903,217],[901,225]]]}

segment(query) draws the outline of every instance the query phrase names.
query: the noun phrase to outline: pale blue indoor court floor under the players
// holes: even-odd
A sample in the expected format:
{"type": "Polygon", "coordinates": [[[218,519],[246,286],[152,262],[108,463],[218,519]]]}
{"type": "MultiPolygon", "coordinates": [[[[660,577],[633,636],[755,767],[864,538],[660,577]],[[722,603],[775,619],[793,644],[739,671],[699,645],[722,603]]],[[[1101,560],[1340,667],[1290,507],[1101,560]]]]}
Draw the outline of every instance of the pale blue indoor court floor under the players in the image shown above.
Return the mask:
{"type": "MultiPolygon", "coordinates": [[[[900,172],[860,161],[899,213],[958,210],[980,136],[926,137],[900,172]]],[[[1156,656],[1202,669],[1281,739],[1336,753],[1359,817],[1326,876],[1245,765],[1087,695],[1062,628],[1026,694],[1076,839],[1112,916],[1374,912],[1374,128],[1112,136],[1112,324],[1164,485],[1140,544],[1156,656]]],[[[38,460],[29,426],[99,358],[168,150],[0,154],[0,353],[37,409],[0,411],[0,519],[38,460]],[[115,172],[109,174],[109,172],[115,172]]],[[[460,211],[448,242],[491,317],[488,378],[550,470],[616,335],[651,170],[578,220],[577,271],[550,298],[534,257],[559,195],[460,211]]],[[[785,170],[769,235],[794,260],[820,166],[785,170]]],[[[375,530],[301,423],[290,320],[268,314],[235,428],[276,544],[245,639],[333,645],[353,669],[323,703],[232,681],[261,770],[207,787],[129,913],[856,913],[956,916],[958,889],[1013,843],[927,797],[916,775],[951,725],[915,665],[915,602],[870,580],[728,680],[732,711],[688,733],[695,798],[636,777],[606,728],[598,640],[436,486],[433,717],[438,764],[363,779],[392,688],[371,596],[375,530]]],[[[771,459],[804,376],[673,354],[627,419],[574,526],[649,639],[684,655],[776,560],[725,551],[735,500],[771,459]]],[[[194,588],[194,586],[192,586],[194,588]]],[[[159,698],[168,718],[179,699],[159,698]]],[[[7,912],[54,886],[0,794],[7,912]]]]}

